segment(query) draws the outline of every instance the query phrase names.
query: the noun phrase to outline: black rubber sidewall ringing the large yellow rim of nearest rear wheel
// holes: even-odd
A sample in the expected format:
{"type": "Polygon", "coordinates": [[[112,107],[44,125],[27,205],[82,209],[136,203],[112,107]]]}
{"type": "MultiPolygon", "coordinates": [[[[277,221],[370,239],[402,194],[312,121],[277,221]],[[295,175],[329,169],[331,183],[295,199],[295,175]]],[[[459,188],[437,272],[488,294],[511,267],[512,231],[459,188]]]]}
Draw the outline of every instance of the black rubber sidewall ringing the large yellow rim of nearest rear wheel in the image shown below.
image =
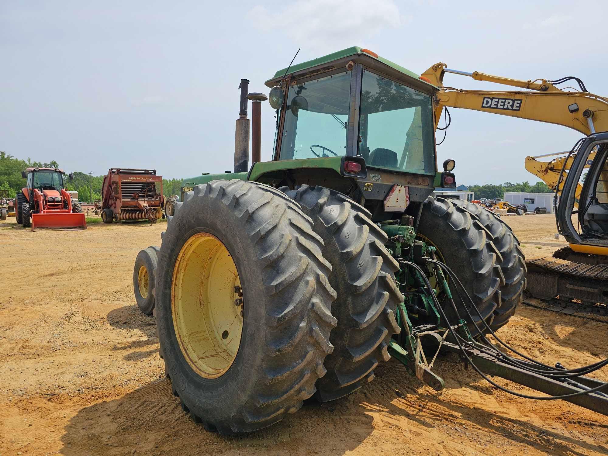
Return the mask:
{"type": "Polygon", "coordinates": [[[190,396],[187,403],[199,415],[228,418],[238,413],[259,378],[265,334],[260,323],[266,309],[258,305],[265,290],[259,262],[252,246],[246,245],[249,235],[226,204],[219,199],[199,196],[185,202],[171,218],[159,252],[156,285],[156,316],[159,339],[167,370],[179,395],[190,396]],[[213,214],[209,216],[209,214],[213,214]],[[171,284],[179,252],[193,235],[206,232],[221,240],[232,256],[243,286],[243,333],[241,343],[229,370],[215,379],[197,375],[185,360],[176,339],[171,314],[171,284]],[[238,252],[238,256],[233,256],[238,252]]]}

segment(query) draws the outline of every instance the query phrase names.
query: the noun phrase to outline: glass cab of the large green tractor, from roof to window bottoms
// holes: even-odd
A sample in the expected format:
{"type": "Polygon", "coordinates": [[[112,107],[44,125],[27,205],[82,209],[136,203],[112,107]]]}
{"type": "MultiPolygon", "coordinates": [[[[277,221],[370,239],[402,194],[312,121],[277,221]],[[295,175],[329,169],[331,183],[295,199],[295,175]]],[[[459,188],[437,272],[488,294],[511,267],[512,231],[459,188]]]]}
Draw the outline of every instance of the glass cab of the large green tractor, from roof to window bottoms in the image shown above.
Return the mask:
{"type": "Polygon", "coordinates": [[[283,98],[279,105],[271,97],[280,124],[275,158],[361,156],[368,167],[434,175],[434,86],[367,49],[338,54],[344,58],[305,62],[286,77],[280,70],[266,83],[283,98]]]}

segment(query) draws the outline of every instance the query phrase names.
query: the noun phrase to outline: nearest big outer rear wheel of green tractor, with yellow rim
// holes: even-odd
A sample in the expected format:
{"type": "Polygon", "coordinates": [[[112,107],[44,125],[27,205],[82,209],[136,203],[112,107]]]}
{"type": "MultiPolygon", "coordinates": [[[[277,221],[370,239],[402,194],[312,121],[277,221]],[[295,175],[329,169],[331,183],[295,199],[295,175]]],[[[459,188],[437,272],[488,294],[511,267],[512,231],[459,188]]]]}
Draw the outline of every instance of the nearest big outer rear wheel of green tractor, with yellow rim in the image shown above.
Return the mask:
{"type": "Polygon", "coordinates": [[[212,181],[185,200],[162,240],[154,294],[173,393],[220,434],[270,426],[316,392],[333,351],[323,240],[263,184],[212,181]]]}

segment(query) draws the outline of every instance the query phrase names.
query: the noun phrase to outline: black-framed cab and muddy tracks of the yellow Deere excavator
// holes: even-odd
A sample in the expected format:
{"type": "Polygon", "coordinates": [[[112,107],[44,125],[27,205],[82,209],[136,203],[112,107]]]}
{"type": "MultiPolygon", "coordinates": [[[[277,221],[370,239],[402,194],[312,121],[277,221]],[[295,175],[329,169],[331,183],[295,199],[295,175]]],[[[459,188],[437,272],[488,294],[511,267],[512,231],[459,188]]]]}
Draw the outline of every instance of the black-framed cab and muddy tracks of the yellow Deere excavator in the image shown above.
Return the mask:
{"type": "Polygon", "coordinates": [[[562,192],[556,202],[558,231],[570,245],[554,252],[553,257],[528,261],[527,291],[563,306],[568,313],[582,309],[606,315],[608,132],[579,140],[566,162],[571,159],[570,171],[562,170],[559,175],[557,184],[562,192]],[[586,169],[587,174],[583,174],[586,169]]]}

